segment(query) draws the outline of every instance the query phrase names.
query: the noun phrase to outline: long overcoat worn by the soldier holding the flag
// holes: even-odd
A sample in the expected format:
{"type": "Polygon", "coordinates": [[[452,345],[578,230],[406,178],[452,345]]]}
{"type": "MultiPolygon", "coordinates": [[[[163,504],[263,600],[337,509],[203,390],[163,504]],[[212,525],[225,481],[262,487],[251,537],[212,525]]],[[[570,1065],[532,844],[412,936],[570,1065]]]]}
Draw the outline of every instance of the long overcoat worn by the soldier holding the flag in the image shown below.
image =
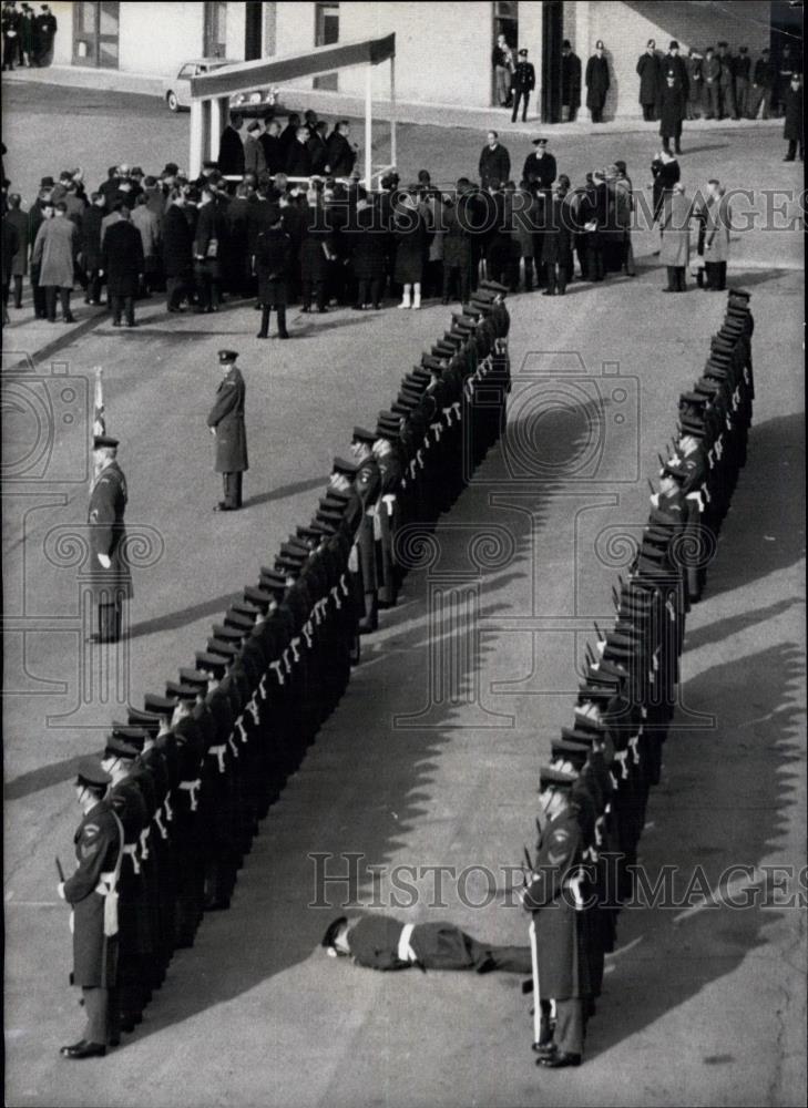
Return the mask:
{"type": "MultiPolygon", "coordinates": [[[[139,236],[140,237],[140,236],[139,236]]],[[[116,461],[111,461],[93,481],[88,507],[90,529],[89,578],[96,601],[112,603],[113,593],[132,596],[132,572],[126,557],[126,478],[116,461]],[[110,558],[105,570],[98,555],[110,558]]]]}

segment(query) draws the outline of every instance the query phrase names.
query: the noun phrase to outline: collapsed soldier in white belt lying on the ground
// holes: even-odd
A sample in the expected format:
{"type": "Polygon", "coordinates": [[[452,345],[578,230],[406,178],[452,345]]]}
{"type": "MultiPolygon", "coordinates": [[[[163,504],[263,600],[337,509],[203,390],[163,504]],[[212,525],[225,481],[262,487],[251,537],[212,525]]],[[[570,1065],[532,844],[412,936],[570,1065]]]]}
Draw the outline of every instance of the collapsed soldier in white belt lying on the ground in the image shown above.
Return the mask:
{"type": "Polygon", "coordinates": [[[399,923],[389,915],[339,916],[320,944],[330,957],[368,970],[504,970],[529,974],[530,946],[480,943],[451,923],[399,923]]]}

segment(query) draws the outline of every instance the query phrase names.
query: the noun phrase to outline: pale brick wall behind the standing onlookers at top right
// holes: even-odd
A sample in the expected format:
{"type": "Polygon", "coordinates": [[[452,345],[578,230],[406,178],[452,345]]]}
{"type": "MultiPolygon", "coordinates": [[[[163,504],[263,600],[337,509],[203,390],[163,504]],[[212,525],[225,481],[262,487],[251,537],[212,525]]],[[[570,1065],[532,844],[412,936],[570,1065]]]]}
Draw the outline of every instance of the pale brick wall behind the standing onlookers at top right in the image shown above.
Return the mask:
{"type": "MultiPolygon", "coordinates": [[[[604,113],[607,120],[642,115],[637,101],[640,79],[635,66],[648,39],[654,39],[657,49],[663,52],[675,39],[683,54],[691,47],[703,50],[724,39],[734,53],[739,45],[747,45],[753,59],[759,55],[764,45],[769,44],[768,0],[722,4],[686,3],[681,0],[636,0],[617,4],[608,0],[590,0],[566,3],[564,8],[572,9],[575,31],[567,38],[584,69],[586,59],[594,53],[595,42],[603,39],[612,82],[604,113]]],[[[586,90],[582,92],[585,102],[586,90]]]]}

